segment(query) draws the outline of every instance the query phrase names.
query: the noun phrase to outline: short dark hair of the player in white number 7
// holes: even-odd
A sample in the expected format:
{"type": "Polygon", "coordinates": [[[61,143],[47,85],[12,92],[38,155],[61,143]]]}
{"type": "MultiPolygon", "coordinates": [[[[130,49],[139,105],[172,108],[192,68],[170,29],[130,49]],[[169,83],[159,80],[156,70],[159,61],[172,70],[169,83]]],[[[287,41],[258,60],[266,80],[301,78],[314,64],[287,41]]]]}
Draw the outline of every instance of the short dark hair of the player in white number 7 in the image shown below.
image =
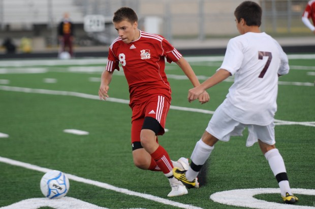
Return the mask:
{"type": "Polygon", "coordinates": [[[245,1],[234,11],[237,22],[243,18],[248,26],[260,26],[262,19],[262,9],[256,2],[245,1]]]}

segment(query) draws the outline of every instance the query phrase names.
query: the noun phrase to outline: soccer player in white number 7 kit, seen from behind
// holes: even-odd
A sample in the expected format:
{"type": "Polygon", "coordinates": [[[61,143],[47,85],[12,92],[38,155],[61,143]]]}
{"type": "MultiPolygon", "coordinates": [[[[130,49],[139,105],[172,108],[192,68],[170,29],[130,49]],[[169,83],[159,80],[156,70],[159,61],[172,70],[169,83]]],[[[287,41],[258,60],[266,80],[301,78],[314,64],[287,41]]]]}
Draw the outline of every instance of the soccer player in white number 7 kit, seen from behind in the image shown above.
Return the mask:
{"type": "Polygon", "coordinates": [[[247,127],[246,146],[259,143],[278,182],[283,201],[295,203],[298,198],[291,191],[285,163],[275,147],[273,122],[278,76],[289,73],[288,57],[273,38],[260,31],[262,10],[257,3],[241,3],[234,15],[241,36],[229,41],[224,61],[216,73],[188,91],[188,101],[197,99],[206,89],[232,75],[235,76],[234,84],[197,142],[190,168],[187,171],[174,168],[173,175],[188,188],[193,187],[214,144],[241,135],[247,127]]]}

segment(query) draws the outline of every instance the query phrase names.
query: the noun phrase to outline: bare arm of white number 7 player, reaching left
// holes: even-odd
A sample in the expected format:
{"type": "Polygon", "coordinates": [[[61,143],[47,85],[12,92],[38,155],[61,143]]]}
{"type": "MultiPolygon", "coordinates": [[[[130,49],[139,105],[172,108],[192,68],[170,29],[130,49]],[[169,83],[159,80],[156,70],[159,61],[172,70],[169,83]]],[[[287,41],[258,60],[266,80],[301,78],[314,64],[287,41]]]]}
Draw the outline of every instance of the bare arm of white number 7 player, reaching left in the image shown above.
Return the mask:
{"type": "Polygon", "coordinates": [[[213,76],[208,78],[206,81],[204,81],[201,85],[192,88],[188,91],[188,101],[191,102],[195,99],[197,99],[205,90],[208,88],[224,81],[228,77],[230,77],[231,74],[226,69],[219,69],[213,76]]]}

